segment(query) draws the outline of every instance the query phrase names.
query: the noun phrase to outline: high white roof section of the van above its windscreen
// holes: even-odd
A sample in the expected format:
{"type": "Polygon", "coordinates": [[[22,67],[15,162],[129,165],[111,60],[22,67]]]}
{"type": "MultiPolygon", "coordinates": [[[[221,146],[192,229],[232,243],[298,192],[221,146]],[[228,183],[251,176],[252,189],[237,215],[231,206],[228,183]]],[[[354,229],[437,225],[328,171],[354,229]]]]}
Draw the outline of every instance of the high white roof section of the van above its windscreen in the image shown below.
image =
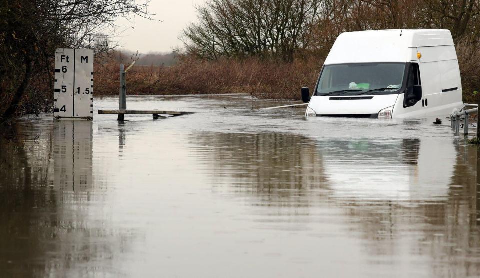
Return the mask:
{"type": "Polygon", "coordinates": [[[412,48],[454,45],[449,30],[396,29],[341,33],[325,64],[355,62],[408,62],[412,48]],[[400,36],[401,33],[401,36],[400,36]]]}

